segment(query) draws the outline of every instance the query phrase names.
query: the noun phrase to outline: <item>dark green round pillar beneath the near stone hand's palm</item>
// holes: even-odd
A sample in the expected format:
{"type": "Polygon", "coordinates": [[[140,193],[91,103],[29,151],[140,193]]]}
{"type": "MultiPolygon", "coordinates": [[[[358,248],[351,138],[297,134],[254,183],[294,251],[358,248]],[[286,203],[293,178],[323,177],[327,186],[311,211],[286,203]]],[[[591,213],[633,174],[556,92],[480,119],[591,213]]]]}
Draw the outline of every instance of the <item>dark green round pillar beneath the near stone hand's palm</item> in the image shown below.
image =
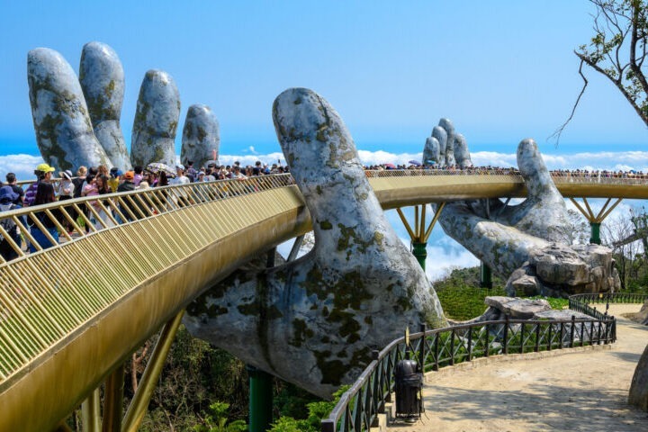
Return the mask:
{"type": "Polygon", "coordinates": [[[247,366],[250,383],[249,432],[265,432],[272,424],[273,375],[247,366]]]}

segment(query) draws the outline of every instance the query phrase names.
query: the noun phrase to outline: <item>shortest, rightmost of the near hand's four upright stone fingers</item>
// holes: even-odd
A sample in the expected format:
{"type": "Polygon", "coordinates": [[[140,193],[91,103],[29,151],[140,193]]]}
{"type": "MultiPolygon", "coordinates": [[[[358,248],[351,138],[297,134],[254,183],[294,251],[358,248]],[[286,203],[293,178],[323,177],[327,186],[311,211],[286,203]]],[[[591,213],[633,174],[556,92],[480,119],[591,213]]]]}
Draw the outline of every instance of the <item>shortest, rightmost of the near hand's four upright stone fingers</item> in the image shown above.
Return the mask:
{"type": "Polygon", "coordinates": [[[207,105],[189,107],[184,120],[180,160],[192,160],[194,166],[206,166],[207,161],[218,160],[220,130],[216,115],[207,105]],[[214,156],[215,155],[215,156],[214,156]]]}

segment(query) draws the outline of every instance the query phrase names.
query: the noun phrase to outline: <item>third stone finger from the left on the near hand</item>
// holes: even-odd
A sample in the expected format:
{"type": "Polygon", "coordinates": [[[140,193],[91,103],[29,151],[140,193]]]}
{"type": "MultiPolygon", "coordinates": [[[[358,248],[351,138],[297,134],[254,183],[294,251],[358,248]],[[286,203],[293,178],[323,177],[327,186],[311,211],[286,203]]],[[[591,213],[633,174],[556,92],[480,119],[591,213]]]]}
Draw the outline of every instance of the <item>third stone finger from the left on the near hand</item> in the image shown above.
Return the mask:
{"type": "Polygon", "coordinates": [[[130,141],[130,163],[175,165],[175,131],[180,118],[180,94],[172,76],[149,70],[139,88],[130,141]]]}

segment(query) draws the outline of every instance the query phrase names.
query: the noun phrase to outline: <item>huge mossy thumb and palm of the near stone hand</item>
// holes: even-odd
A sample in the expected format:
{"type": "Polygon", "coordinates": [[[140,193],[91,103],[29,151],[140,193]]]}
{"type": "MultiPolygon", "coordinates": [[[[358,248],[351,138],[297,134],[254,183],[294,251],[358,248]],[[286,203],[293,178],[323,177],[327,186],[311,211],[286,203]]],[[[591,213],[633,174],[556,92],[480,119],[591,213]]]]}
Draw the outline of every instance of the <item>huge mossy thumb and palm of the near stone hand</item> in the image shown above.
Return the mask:
{"type": "Polygon", "coordinates": [[[304,88],[273,119],[311,212],[315,246],[300,259],[238,273],[187,308],[198,338],[328,397],[405,327],[446,324],[437,294],[383,216],[338,112],[304,88]],[[296,366],[298,365],[298,366],[296,366]]]}

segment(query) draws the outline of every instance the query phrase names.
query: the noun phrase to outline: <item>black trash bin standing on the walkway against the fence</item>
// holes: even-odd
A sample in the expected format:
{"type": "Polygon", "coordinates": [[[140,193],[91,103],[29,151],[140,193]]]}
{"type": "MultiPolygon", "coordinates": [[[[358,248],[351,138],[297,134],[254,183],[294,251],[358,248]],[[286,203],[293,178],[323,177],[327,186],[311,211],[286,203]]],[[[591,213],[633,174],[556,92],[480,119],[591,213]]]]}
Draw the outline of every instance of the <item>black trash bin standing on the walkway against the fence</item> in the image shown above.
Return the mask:
{"type": "Polygon", "coordinates": [[[396,417],[420,418],[423,401],[420,393],[423,388],[423,374],[415,360],[401,360],[394,370],[396,382],[396,417]]]}

